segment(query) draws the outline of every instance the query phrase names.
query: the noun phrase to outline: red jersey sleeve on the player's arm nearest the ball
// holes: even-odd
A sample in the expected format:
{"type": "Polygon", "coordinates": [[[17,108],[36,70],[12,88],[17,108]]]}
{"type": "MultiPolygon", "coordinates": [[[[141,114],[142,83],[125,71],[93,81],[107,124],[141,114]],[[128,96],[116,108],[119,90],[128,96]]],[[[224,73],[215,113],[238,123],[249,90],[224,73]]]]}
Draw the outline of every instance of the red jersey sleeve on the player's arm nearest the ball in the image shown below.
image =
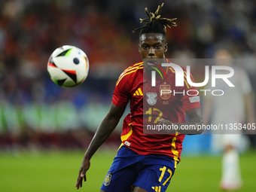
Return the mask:
{"type": "Polygon", "coordinates": [[[122,75],[117,80],[112,98],[112,102],[118,107],[126,106],[130,100],[129,81],[123,78],[122,75]]]}

